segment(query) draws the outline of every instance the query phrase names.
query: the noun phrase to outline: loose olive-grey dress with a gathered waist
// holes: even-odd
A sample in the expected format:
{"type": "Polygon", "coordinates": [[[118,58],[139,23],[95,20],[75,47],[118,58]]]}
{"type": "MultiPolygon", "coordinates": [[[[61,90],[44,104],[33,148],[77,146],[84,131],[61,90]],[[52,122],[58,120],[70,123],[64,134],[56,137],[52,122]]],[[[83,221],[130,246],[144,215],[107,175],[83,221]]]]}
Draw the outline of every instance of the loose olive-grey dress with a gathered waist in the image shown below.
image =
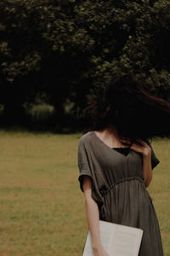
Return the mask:
{"type": "MultiPolygon", "coordinates": [[[[150,141],[145,142],[151,148],[153,169],[160,161],[150,141]]],[[[91,177],[99,219],[144,230],[139,256],[162,256],[156,210],[144,185],[142,154],[129,149],[124,155],[107,146],[94,131],[82,135],[77,153],[80,188],[82,177],[91,177]]]]}

